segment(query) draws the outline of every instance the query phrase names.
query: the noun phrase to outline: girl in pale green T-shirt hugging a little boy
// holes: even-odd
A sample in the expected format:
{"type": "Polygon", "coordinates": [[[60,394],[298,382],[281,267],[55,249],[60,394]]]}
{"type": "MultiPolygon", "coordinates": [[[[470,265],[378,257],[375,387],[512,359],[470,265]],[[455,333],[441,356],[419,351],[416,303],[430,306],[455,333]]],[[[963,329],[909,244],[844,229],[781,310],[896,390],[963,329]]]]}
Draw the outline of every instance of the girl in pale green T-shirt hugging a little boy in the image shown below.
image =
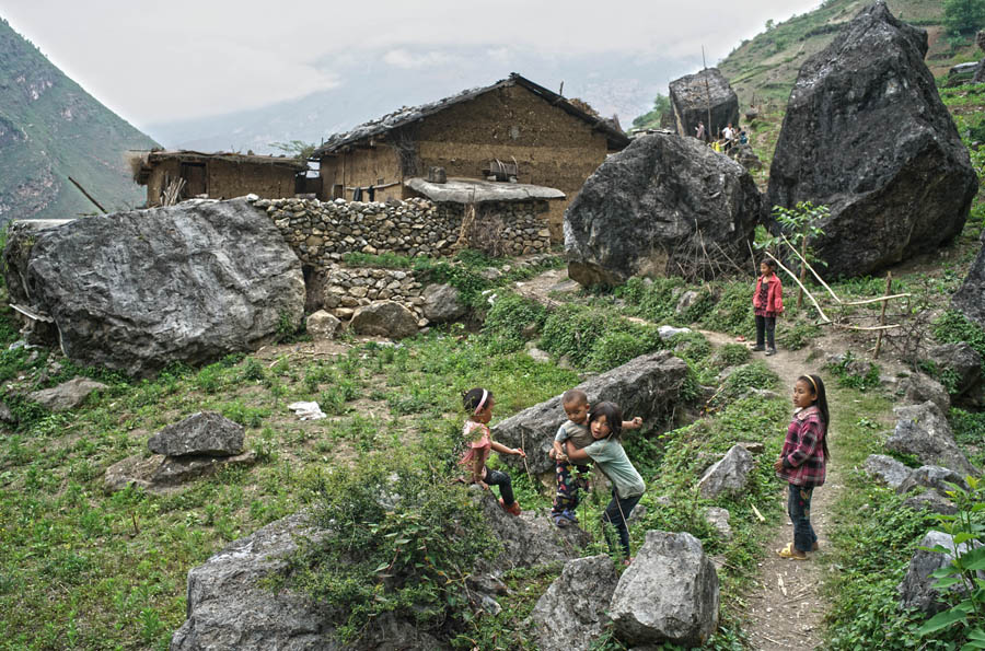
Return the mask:
{"type": "Polygon", "coordinates": [[[591,458],[609,477],[612,484],[612,500],[602,513],[602,526],[606,531],[605,542],[612,551],[614,545],[607,531],[607,525],[611,524],[618,534],[623,565],[628,566],[633,561],[633,556],[629,553],[629,527],[626,520],[646,492],[647,485],[623,450],[623,410],[618,405],[599,403],[589,412],[588,421],[594,442],[579,450],[568,441],[567,455],[573,463],[583,463],[591,458]]]}

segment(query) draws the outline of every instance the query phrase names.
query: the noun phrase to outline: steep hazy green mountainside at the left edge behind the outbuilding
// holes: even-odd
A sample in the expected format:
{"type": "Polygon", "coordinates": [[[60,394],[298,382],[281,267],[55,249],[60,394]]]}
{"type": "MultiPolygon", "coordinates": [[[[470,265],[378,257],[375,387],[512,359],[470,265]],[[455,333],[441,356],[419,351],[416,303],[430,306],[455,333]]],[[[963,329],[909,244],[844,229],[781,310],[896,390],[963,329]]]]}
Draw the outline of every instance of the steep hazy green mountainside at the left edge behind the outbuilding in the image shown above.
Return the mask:
{"type": "Polygon", "coordinates": [[[0,224],[132,208],[144,190],[128,149],[159,147],[103,106],[0,19],[0,224]]]}

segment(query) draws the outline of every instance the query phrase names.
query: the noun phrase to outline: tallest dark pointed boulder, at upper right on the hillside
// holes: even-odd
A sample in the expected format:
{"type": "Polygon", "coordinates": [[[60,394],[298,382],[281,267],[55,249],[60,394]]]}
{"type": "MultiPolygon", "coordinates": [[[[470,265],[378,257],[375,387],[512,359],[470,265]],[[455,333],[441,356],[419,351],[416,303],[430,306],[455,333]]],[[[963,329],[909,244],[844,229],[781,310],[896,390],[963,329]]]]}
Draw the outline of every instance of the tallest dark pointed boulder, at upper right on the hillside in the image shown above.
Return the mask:
{"type": "Polygon", "coordinates": [[[934,251],[967,218],[977,178],[926,54],[927,33],[878,0],[800,68],[766,205],[831,209],[811,244],[832,277],[934,251]]]}

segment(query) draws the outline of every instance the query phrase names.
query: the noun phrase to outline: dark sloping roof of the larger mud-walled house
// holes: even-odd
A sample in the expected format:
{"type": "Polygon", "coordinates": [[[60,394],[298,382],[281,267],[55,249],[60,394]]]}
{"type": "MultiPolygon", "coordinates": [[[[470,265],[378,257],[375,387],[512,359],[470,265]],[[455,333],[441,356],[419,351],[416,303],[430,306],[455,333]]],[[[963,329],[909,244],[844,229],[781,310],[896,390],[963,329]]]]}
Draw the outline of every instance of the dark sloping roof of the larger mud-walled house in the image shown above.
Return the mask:
{"type": "Polygon", "coordinates": [[[338,153],[347,146],[368,140],[398,127],[416,123],[417,120],[444,111],[449,106],[474,100],[479,95],[483,95],[490,91],[512,85],[519,85],[526,89],[535,95],[541,96],[548,104],[557,106],[569,115],[573,115],[575,117],[590,124],[593,128],[602,131],[603,133],[605,133],[605,138],[609,141],[610,149],[622,149],[629,144],[629,138],[622,131],[622,129],[615,127],[610,120],[586,113],[581,108],[567,101],[561,95],[548,91],[544,86],[536,84],[529,79],[513,72],[509,75],[509,78],[497,81],[491,85],[462,91],[456,95],[444,97],[443,100],[439,100],[438,102],[432,102],[430,104],[421,104],[420,106],[410,107],[405,106],[404,108],[384,115],[381,118],[359,125],[350,131],[346,131],[344,133],[335,133],[328,137],[328,139],[322,144],[322,147],[314,151],[312,158],[321,158],[338,153]]]}

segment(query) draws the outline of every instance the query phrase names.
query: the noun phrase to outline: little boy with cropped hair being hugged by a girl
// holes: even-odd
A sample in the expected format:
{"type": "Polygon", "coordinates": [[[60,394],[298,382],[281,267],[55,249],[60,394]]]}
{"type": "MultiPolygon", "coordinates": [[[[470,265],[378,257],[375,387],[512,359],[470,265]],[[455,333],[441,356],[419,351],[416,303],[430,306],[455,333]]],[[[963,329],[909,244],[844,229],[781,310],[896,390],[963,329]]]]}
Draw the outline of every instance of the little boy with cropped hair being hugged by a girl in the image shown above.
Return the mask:
{"type": "MultiPolygon", "coordinates": [[[[587,447],[594,442],[592,432],[588,426],[589,405],[588,396],[580,388],[569,388],[561,395],[561,407],[565,416],[568,417],[557,430],[554,437],[554,446],[548,456],[555,461],[555,476],[557,478],[557,492],[554,497],[554,504],[551,508],[551,518],[554,524],[560,527],[568,526],[572,522],[578,522],[577,509],[579,489],[588,489],[588,474],[590,467],[584,460],[580,464],[571,464],[568,455],[565,454],[564,445],[570,441],[576,449],[587,447]],[[572,465],[578,474],[572,476],[572,465]]],[[[633,430],[642,425],[642,419],[638,416],[633,420],[623,421],[623,429],[633,430]]]]}

